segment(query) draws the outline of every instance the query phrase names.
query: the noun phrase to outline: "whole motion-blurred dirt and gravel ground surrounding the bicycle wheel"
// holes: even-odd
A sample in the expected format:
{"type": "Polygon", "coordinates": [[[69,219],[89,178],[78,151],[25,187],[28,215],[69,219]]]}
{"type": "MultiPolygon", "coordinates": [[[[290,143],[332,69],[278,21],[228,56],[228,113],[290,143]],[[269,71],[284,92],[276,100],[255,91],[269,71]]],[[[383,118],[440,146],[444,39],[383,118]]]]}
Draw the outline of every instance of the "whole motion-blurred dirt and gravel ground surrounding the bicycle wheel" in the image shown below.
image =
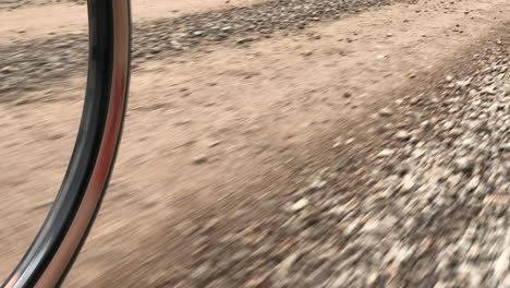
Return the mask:
{"type": "MultiPolygon", "coordinates": [[[[66,286],[509,287],[510,4],[231,2],[134,1],[121,153],[66,286]]],[[[69,157],[77,9],[0,10],[1,276],[69,157]]]]}

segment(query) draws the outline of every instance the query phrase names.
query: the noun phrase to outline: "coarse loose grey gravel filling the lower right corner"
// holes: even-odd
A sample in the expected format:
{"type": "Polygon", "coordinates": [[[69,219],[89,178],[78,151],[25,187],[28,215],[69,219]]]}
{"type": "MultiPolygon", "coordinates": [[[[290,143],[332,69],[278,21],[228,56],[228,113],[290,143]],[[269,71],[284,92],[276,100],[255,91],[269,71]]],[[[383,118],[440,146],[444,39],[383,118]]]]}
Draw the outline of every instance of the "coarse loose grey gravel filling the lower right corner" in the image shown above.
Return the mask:
{"type": "Polygon", "coordinates": [[[198,252],[189,276],[167,283],[509,287],[509,62],[508,50],[487,48],[454,76],[471,79],[469,89],[442,76],[405,97],[385,118],[399,124],[375,119],[386,132],[374,134],[372,148],[356,137],[349,146],[362,148],[343,152],[341,169],[321,169],[308,185],[278,195],[274,211],[236,226],[239,214],[217,216],[208,232],[192,235],[198,252]],[[402,141],[408,134],[416,141],[402,141]]]}

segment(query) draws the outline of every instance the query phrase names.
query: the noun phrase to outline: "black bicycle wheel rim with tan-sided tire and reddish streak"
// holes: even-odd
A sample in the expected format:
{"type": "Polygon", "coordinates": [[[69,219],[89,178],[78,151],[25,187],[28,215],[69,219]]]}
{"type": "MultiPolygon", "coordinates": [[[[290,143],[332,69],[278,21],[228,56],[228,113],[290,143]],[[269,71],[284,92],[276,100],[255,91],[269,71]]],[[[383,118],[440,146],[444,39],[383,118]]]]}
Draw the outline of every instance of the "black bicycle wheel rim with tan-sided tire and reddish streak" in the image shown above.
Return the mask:
{"type": "Polygon", "coordinates": [[[60,191],[31,248],[2,287],[59,287],[99,209],[127,101],[129,0],[88,0],[88,76],[82,120],[60,191]]]}

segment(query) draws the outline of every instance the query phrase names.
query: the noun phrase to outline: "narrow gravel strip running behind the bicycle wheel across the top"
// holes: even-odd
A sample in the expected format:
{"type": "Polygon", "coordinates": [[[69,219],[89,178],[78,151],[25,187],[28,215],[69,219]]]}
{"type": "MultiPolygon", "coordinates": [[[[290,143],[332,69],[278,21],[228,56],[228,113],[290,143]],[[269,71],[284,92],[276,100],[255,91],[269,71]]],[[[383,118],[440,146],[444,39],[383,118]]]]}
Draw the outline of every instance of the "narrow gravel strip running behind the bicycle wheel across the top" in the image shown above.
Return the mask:
{"type": "MultiPolygon", "coordinates": [[[[174,57],[219,43],[246,45],[280,31],[300,31],[317,21],[409,0],[275,0],[135,24],[133,64],[174,57]]],[[[49,80],[83,75],[88,39],[69,34],[0,45],[0,99],[37,89],[49,80]]]]}

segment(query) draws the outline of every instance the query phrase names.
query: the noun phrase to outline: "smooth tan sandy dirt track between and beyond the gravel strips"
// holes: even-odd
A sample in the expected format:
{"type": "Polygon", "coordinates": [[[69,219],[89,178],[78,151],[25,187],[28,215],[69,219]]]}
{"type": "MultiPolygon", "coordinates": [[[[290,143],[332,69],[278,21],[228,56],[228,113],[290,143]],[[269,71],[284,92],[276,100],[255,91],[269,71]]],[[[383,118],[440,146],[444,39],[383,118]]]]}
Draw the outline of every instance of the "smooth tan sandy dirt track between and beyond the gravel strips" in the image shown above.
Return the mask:
{"type": "MultiPolygon", "coordinates": [[[[135,21],[179,16],[223,2],[139,0],[133,14],[135,21]]],[[[83,9],[0,11],[9,23],[0,40],[82,31],[83,9]]],[[[143,63],[132,76],[110,190],[65,287],[153,287],[138,273],[144,267],[160,273],[189,261],[193,248],[178,237],[183,220],[292,190],[307,169],[331,164],[336,137],[363,137],[363,123],[377,109],[445,67],[469,62],[459,56],[496,39],[509,21],[507,0],[452,1],[447,8],[420,1],[318,22],[250,46],[184,53],[177,63],[143,63]],[[170,252],[158,254],[161,247],[170,252]]],[[[63,175],[81,81],[28,92],[37,99],[31,103],[0,105],[2,277],[29,244],[63,175]]]]}

